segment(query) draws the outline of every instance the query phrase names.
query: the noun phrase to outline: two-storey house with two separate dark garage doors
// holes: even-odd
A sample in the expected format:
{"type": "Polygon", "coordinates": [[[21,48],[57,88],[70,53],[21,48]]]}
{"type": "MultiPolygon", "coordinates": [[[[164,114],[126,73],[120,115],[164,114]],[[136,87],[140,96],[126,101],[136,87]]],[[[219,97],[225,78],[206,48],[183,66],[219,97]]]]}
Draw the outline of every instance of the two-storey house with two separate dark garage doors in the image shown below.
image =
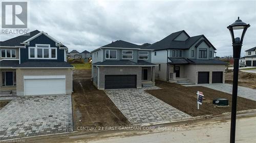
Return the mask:
{"type": "Polygon", "coordinates": [[[214,58],[216,48],[204,35],[190,37],[179,31],[146,48],[154,50],[151,62],[158,65],[156,79],[181,84],[225,81],[226,63],[214,58]]]}

